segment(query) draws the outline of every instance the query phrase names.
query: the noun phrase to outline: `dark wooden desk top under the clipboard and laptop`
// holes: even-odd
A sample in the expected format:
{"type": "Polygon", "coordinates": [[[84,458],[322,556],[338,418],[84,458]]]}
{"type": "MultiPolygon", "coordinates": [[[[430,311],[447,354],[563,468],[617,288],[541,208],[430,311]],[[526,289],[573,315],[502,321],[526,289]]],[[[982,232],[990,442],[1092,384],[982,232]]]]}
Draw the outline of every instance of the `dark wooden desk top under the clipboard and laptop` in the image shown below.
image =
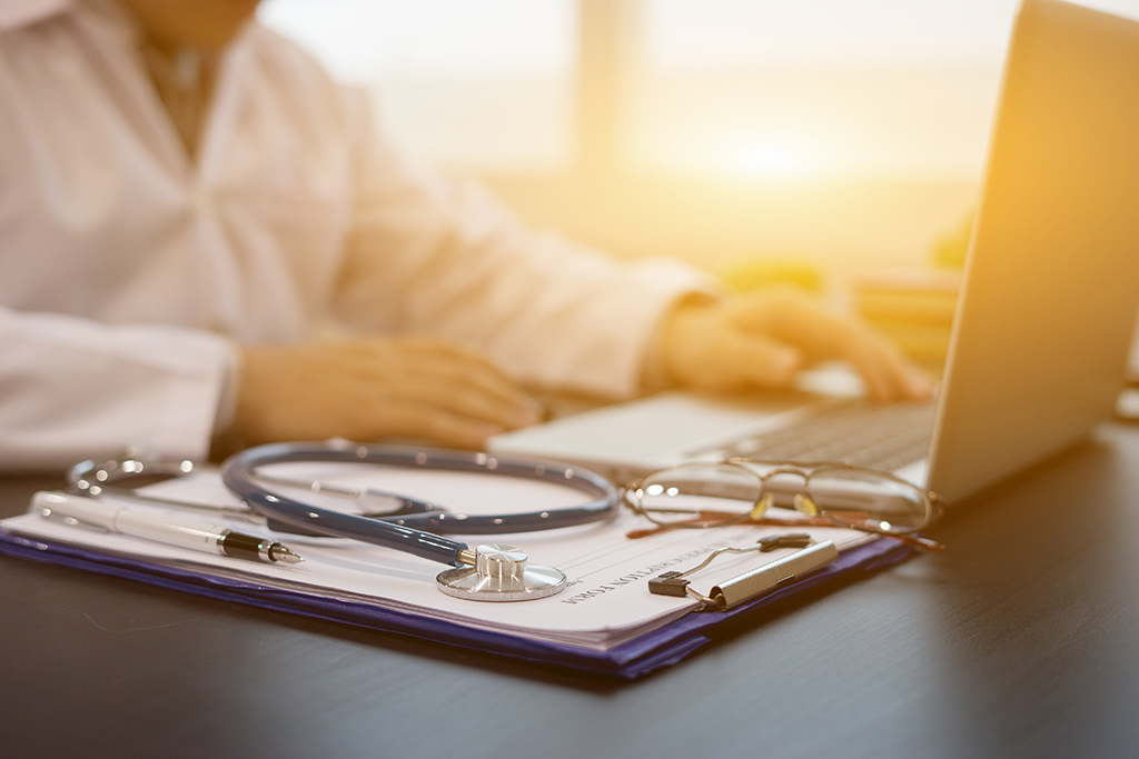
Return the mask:
{"type": "Polygon", "coordinates": [[[0,756],[1139,757],[1139,428],[933,534],[633,684],[0,558],[0,756]]]}

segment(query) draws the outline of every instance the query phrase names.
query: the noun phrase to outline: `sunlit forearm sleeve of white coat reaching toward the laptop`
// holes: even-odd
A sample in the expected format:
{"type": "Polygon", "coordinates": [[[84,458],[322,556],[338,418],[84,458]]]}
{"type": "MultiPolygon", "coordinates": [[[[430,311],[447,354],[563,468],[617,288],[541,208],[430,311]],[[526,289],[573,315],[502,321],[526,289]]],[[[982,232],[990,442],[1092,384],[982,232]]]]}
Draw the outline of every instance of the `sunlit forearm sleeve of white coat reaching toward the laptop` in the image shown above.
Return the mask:
{"type": "Polygon", "coordinates": [[[713,288],[675,262],[618,262],[532,232],[485,190],[383,139],[368,142],[361,165],[337,303],[362,330],[431,333],[519,381],[621,398],[640,389],[662,314],[713,288]]]}

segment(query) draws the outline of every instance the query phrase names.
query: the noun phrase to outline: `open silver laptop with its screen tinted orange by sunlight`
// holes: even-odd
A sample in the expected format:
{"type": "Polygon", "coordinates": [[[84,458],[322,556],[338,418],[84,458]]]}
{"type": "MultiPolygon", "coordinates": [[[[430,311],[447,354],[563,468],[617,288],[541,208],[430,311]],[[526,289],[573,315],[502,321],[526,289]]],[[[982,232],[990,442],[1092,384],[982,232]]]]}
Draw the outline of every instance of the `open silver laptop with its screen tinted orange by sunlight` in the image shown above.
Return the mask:
{"type": "Polygon", "coordinates": [[[872,406],[841,376],[818,374],[793,393],[665,393],[499,435],[490,448],[618,482],[724,455],[849,461],[952,504],[1111,418],[1137,305],[1139,23],[1025,0],[935,402],[872,406]]]}

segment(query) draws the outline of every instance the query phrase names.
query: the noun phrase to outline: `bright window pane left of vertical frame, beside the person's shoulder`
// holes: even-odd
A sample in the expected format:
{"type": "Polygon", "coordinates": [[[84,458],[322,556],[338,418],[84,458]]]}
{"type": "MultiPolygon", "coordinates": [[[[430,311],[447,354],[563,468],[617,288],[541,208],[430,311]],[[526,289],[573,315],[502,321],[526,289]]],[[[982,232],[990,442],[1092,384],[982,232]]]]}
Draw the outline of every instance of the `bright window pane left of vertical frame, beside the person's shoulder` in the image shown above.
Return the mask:
{"type": "Polygon", "coordinates": [[[366,86],[402,142],[451,166],[549,171],[573,151],[573,0],[269,0],[259,16],[366,86]]]}

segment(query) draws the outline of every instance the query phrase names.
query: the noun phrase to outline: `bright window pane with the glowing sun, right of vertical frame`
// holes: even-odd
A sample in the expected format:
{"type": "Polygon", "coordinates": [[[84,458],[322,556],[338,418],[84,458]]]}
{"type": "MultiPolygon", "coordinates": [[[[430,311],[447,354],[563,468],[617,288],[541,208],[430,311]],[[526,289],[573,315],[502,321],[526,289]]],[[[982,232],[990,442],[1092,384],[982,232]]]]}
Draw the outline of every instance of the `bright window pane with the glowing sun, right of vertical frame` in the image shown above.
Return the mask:
{"type": "Polygon", "coordinates": [[[1014,0],[649,0],[638,166],[738,179],[973,179],[1014,0]]]}

